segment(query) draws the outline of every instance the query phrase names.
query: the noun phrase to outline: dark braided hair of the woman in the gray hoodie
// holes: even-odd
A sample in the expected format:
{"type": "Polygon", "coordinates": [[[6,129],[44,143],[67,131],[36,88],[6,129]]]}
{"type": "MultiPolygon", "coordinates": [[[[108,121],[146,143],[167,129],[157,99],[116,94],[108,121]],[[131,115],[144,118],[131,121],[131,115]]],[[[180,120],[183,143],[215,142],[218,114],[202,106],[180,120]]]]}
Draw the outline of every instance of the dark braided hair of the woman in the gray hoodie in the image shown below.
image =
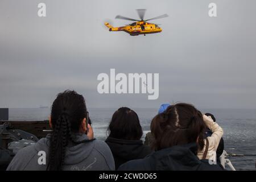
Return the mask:
{"type": "Polygon", "coordinates": [[[47,170],[58,171],[64,164],[66,147],[72,140],[72,132],[79,132],[82,119],[86,117],[84,97],[75,91],[58,94],[52,104],[51,122],[53,133],[49,146],[47,170]]]}

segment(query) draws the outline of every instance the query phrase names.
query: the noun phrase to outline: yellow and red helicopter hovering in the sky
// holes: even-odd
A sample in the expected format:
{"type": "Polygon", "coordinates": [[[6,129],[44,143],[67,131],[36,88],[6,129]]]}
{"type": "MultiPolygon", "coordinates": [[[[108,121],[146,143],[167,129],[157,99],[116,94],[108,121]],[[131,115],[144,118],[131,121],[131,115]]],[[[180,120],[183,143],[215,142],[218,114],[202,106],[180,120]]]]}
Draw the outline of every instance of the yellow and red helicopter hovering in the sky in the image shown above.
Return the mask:
{"type": "Polygon", "coordinates": [[[148,20],[154,20],[154,19],[160,19],[160,18],[166,18],[168,15],[160,15],[156,16],[155,18],[150,18],[144,20],[146,9],[138,9],[137,13],[139,15],[139,18],[141,20],[133,19],[133,18],[127,18],[125,16],[117,15],[115,18],[117,19],[125,19],[125,20],[131,20],[135,21],[134,23],[128,24],[123,27],[113,27],[109,23],[105,23],[105,26],[109,28],[109,31],[125,31],[128,34],[135,36],[135,35],[146,35],[146,34],[155,34],[162,32],[162,28],[158,26],[158,24],[154,23],[148,23],[148,20]]]}

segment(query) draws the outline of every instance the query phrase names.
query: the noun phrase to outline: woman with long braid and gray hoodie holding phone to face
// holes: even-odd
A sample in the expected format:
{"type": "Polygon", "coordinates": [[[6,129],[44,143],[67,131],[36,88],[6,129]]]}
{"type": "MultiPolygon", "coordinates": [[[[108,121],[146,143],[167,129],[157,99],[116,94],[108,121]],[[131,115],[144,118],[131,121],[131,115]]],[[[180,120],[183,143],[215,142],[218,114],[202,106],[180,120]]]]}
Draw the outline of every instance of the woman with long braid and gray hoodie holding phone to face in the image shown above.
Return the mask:
{"type": "Polygon", "coordinates": [[[59,93],[52,104],[52,133],[20,150],[7,170],[114,170],[108,145],[93,139],[84,97],[75,91],[59,93]]]}

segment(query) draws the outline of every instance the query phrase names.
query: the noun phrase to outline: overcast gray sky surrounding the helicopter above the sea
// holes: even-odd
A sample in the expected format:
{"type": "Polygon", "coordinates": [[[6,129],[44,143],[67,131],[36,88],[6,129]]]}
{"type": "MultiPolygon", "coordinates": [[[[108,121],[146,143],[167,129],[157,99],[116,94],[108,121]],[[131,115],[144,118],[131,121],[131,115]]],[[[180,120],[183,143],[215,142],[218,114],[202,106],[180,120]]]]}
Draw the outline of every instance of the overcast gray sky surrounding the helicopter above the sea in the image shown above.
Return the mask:
{"type": "Polygon", "coordinates": [[[247,1],[0,1],[0,107],[52,104],[75,89],[89,107],[158,107],[189,102],[201,108],[256,108],[256,2],[247,1]],[[38,3],[47,6],[39,18],[38,3]],[[210,2],[217,17],[208,16],[210,2]],[[160,34],[109,32],[130,23],[116,15],[145,18],[160,34]],[[159,98],[99,94],[97,76],[159,73],[159,98]]]}

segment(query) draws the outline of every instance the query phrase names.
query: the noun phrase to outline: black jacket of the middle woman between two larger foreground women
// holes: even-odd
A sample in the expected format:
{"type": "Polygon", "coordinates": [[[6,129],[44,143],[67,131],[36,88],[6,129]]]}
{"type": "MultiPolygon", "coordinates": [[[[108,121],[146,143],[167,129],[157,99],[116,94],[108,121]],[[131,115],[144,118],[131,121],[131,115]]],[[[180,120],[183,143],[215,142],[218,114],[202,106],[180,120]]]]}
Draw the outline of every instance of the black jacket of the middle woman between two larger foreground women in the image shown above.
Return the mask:
{"type": "Polygon", "coordinates": [[[142,140],[123,140],[108,137],[105,141],[115,160],[115,169],[121,164],[133,159],[142,159],[152,151],[150,147],[144,146],[142,140]]]}

